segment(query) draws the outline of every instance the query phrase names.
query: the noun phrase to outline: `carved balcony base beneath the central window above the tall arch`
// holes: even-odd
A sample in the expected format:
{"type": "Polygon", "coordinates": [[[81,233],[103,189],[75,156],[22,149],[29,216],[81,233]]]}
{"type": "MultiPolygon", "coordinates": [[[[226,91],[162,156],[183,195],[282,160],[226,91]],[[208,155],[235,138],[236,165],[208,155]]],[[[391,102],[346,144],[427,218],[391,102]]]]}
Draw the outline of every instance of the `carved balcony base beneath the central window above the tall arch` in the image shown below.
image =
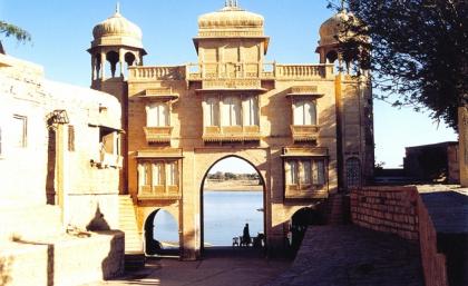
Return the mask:
{"type": "Polygon", "coordinates": [[[205,142],[260,141],[259,126],[207,126],[203,132],[205,142]]]}

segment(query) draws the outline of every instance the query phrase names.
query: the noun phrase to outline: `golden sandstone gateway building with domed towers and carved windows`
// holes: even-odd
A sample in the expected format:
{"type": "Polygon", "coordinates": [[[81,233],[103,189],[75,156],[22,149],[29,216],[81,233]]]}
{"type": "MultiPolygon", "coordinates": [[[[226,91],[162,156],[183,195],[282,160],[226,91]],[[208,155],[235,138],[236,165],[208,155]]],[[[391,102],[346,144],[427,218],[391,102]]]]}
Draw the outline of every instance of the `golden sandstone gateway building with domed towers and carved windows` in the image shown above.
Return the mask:
{"type": "Polygon", "coordinates": [[[145,221],[165,209],[178,223],[182,258],[199,257],[203,181],[230,156],[261,176],[270,249],[283,246],[295,211],[365,184],[373,168],[371,87],[365,71],[337,69],[350,65],[337,41],[347,17],[321,26],[318,65],[265,62],[264,19],[236,1],[198,18],[193,65],[144,66],[142,31],[118,9],[94,28],[91,87],[123,109],[127,252],[142,252],[145,221]]]}

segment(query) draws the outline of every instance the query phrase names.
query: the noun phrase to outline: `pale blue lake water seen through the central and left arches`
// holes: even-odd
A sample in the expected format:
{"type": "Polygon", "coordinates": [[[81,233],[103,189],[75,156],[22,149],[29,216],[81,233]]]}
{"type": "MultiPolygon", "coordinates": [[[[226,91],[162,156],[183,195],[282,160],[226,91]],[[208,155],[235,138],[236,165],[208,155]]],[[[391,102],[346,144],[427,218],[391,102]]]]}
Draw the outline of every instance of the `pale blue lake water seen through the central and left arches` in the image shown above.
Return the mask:
{"type": "MultiPolygon", "coordinates": [[[[232,245],[248,224],[251,236],[263,233],[263,191],[204,191],[204,241],[206,245],[232,245]]],[[[155,238],[178,241],[177,224],[165,211],[155,218],[155,238]]]]}

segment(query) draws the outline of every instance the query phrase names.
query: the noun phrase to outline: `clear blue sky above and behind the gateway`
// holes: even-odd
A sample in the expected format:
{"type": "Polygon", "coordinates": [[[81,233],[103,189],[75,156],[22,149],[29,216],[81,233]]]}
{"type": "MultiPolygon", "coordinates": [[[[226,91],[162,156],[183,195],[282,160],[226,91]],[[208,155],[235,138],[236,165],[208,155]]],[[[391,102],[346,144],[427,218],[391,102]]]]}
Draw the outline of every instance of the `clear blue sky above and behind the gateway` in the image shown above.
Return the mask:
{"type": "MultiPolygon", "coordinates": [[[[120,0],[121,13],[143,30],[148,56],[145,65],[195,62],[192,38],[199,14],[218,10],[224,0],[120,0]]],[[[267,60],[316,63],[320,24],[332,16],[326,0],[238,0],[265,18],[271,37],[267,60]]],[[[0,19],[27,29],[32,46],[3,39],[11,56],[42,65],[49,79],[89,86],[90,58],[86,51],[92,27],[114,13],[114,0],[0,0],[0,19]]],[[[376,160],[386,167],[402,164],[406,146],[457,140],[451,129],[437,126],[428,115],[374,102],[376,160]]],[[[233,170],[240,169],[235,164],[233,170]]],[[[227,168],[227,170],[230,170],[227,168]]],[[[231,170],[232,171],[232,170],[231,170]]]]}

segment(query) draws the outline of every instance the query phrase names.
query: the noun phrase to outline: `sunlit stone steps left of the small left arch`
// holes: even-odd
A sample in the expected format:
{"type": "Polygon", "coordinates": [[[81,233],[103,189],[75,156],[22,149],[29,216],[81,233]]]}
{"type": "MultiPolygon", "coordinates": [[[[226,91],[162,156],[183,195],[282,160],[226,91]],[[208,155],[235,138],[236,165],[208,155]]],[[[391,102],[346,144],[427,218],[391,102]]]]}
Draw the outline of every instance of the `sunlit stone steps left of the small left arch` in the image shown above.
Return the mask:
{"type": "Polygon", "coordinates": [[[138,233],[134,203],[129,195],[119,196],[119,229],[125,233],[125,268],[144,267],[145,253],[138,233]]]}

